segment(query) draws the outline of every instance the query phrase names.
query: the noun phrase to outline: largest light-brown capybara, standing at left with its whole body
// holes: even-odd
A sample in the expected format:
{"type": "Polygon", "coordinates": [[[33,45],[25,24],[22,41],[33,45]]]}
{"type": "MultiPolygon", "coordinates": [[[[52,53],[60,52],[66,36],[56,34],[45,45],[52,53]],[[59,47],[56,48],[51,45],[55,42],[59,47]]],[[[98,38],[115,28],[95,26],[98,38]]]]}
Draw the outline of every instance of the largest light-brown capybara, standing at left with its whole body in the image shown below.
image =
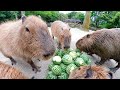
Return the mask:
{"type": "Polygon", "coordinates": [[[50,59],[55,45],[47,24],[36,16],[23,16],[21,20],[9,21],[0,25],[0,51],[13,63],[13,57],[23,58],[37,72],[40,67],[33,59],[50,59]]]}

